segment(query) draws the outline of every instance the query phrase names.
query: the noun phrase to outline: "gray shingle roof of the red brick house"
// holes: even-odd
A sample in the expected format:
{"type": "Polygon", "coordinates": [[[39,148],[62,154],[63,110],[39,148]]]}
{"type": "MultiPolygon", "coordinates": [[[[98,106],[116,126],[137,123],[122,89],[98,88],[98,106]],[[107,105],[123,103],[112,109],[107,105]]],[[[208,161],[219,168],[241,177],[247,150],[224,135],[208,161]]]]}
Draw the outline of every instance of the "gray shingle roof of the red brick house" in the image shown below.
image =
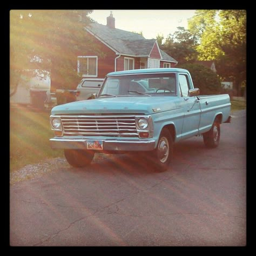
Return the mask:
{"type": "MultiPolygon", "coordinates": [[[[91,23],[87,26],[93,35],[99,37],[111,48],[120,54],[133,56],[149,56],[156,39],[145,39],[142,35],[134,32],[129,32],[121,29],[111,29],[106,25],[91,23]]],[[[161,55],[164,60],[177,62],[164,51],[161,55]]]]}

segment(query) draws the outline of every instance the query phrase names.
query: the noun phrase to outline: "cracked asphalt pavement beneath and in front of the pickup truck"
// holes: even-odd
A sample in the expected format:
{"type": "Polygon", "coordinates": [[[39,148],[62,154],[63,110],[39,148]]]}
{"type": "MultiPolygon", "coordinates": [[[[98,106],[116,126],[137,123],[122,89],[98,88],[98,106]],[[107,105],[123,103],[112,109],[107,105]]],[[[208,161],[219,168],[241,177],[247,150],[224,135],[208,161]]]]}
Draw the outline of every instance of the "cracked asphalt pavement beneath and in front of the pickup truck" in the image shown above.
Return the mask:
{"type": "Polygon", "coordinates": [[[246,111],[174,145],[156,172],[134,156],[99,155],[10,185],[11,246],[245,246],[246,111]]]}

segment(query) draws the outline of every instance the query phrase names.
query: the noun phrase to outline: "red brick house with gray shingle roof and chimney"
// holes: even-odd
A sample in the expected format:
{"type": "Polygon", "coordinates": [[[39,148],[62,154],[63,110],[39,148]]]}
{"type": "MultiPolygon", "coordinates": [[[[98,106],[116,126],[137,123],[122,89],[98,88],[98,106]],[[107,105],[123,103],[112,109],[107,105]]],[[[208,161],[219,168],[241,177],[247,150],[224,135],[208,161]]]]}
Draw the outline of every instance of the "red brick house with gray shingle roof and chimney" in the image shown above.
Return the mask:
{"type": "Polygon", "coordinates": [[[159,49],[156,39],[116,29],[112,12],[106,25],[91,23],[85,30],[104,56],[93,51],[81,53],[77,71],[83,77],[104,78],[109,72],[121,70],[172,68],[178,63],[159,49]]]}

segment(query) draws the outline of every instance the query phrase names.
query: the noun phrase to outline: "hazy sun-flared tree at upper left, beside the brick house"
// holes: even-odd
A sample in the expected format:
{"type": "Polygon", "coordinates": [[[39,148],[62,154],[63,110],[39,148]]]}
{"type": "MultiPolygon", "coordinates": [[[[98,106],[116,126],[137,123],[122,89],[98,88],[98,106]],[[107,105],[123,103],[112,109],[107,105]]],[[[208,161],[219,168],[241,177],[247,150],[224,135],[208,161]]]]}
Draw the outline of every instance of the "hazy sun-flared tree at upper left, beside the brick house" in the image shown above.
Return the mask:
{"type": "MultiPolygon", "coordinates": [[[[10,87],[17,90],[22,75],[50,72],[51,85],[77,85],[77,56],[94,45],[84,26],[91,10],[11,10],[10,87]],[[36,72],[36,73],[35,73],[36,72]]],[[[12,94],[13,94],[12,93],[12,94]]]]}

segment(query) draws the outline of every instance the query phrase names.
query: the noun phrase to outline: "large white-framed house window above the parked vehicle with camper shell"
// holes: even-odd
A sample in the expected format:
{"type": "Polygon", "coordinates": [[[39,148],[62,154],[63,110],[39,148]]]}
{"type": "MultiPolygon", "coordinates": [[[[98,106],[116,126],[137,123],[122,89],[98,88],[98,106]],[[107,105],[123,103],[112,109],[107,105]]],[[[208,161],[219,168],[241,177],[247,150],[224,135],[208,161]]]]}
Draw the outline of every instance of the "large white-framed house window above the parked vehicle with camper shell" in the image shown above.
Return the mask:
{"type": "Polygon", "coordinates": [[[77,72],[83,77],[98,76],[98,56],[78,56],[77,72]]]}

